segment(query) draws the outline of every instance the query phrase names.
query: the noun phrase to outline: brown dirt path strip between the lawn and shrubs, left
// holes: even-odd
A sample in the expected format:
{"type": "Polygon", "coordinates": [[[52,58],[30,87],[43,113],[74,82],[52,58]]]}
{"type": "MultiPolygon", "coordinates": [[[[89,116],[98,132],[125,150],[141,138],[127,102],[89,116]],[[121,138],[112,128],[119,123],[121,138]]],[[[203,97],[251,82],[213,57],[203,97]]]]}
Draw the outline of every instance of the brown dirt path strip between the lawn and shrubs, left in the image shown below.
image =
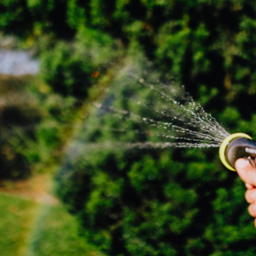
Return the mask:
{"type": "Polygon", "coordinates": [[[13,195],[41,204],[56,205],[58,199],[50,194],[52,182],[48,174],[35,175],[26,180],[1,181],[0,193],[13,195]]]}

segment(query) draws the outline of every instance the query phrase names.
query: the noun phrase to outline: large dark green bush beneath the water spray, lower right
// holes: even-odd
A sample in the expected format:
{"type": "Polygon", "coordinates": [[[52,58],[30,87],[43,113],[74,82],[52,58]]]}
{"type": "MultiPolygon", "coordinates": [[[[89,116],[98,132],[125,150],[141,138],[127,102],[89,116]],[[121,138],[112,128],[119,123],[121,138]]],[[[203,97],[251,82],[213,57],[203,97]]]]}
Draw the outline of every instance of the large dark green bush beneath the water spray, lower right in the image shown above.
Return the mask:
{"type": "Polygon", "coordinates": [[[129,115],[157,118],[164,104],[146,86],[157,86],[158,72],[147,67],[145,73],[147,60],[135,56],[125,60],[101,111],[91,113],[69,148],[58,195],[78,216],[82,235],[108,255],[254,255],[245,188],[221,165],[218,150],[140,151],[118,144],[149,140],[153,130],[129,115]]]}

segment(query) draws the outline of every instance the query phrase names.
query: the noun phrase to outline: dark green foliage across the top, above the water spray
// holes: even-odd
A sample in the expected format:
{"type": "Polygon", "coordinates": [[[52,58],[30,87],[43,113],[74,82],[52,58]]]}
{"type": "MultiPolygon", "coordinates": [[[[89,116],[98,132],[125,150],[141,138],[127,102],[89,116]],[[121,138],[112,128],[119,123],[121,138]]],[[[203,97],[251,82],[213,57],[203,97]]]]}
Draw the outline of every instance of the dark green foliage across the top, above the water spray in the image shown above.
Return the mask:
{"type": "Polygon", "coordinates": [[[214,94],[207,106],[232,104],[248,118],[256,92],[255,12],[253,2],[231,0],[2,1],[0,29],[46,51],[46,81],[63,94],[86,96],[91,72],[113,60],[113,42],[137,41],[160,72],[176,76],[194,96],[214,94]],[[77,47],[58,42],[74,38],[77,47]]]}

